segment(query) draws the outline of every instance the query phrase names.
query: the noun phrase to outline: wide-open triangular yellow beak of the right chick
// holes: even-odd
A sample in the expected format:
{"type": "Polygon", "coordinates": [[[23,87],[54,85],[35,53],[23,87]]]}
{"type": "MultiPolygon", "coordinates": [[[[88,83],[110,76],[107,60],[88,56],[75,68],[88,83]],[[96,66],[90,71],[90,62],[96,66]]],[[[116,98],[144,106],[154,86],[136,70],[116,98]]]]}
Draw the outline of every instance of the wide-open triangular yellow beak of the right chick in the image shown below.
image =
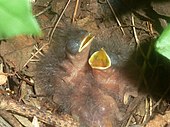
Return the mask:
{"type": "Polygon", "coordinates": [[[88,62],[94,69],[104,70],[111,66],[111,59],[103,48],[94,52],[88,62]]]}

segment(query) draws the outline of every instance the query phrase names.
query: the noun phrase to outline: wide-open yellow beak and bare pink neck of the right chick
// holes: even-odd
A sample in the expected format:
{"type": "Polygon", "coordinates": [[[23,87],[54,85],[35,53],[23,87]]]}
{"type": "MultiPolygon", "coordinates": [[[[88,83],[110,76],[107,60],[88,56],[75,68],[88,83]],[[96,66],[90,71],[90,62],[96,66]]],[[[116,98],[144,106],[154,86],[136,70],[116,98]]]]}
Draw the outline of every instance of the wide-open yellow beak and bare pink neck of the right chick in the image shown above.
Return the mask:
{"type": "Polygon", "coordinates": [[[88,62],[92,68],[95,80],[101,85],[102,89],[108,92],[112,91],[115,95],[122,96],[119,88],[119,71],[115,71],[115,69],[111,68],[111,58],[106,51],[101,48],[99,51],[94,52],[88,62]]]}

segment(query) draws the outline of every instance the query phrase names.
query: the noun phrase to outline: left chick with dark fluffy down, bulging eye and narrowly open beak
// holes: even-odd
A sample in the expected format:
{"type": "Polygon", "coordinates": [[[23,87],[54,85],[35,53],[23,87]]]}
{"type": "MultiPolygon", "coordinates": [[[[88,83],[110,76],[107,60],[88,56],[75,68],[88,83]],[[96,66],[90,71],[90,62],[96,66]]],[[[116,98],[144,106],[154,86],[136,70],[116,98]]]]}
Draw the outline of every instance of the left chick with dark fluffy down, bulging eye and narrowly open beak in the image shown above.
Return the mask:
{"type": "Polygon", "coordinates": [[[72,87],[85,74],[93,38],[87,31],[75,27],[58,29],[54,36],[56,41],[37,64],[36,93],[68,106],[72,87]]]}

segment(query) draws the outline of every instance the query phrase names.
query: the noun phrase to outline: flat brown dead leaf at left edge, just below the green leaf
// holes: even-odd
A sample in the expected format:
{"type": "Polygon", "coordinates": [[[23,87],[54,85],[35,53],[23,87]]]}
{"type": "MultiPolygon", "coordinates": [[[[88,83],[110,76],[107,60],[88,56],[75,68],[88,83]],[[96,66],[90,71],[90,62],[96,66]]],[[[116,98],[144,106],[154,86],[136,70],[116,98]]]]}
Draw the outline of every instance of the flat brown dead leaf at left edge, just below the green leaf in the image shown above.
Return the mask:
{"type": "MultiPolygon", "coordinates": [[[[16,65],[17,70],[21,70],[23,65],[31,56],[35,40],[27,36],[18,36],[7,42],[2,41],[0,44],[0,54],[6,60],[16,65]]],[[[11,66],[13,66],[11,64],[11,66]]]]}

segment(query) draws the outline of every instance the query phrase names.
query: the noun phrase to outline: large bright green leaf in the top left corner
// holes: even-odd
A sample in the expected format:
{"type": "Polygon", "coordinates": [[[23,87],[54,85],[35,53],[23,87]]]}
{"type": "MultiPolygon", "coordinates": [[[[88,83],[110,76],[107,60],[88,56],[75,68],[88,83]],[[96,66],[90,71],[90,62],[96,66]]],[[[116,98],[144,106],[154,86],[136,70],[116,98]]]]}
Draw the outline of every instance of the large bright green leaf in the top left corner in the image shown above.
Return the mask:
{"type": "Polygon", "coordinates": [[[20,34],[41,34],[30,0],[0,0],[0,39],[20,34]]]}

